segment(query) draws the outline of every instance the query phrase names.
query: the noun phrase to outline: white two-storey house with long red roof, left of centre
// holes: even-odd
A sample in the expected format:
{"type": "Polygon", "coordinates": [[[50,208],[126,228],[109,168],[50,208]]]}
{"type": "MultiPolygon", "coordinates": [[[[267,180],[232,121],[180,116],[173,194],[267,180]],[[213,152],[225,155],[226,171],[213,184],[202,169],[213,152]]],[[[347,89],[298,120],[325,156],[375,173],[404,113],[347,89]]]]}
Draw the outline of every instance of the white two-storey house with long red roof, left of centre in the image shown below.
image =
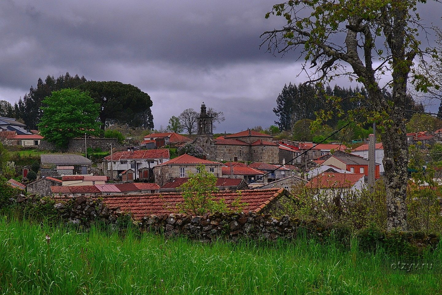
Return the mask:
{"type": "Polygon", "coordinates": [[[109,179],[122,177],[126,182],[150,180],[153,167],[169,160],[169,149],[130,149],[104,157],[103,174],[109,179]]]}

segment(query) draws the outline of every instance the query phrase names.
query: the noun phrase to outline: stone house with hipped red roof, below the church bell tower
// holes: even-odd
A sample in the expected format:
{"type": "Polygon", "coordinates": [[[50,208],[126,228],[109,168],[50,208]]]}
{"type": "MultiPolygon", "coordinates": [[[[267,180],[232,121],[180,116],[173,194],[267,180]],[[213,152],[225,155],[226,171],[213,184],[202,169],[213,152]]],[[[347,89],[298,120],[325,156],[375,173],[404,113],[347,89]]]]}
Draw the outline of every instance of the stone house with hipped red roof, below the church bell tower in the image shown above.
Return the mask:
{"type": "Polygon", "coordinates": [[[207,172],[212,173],[216,177],[221,176],[221,166],[219,162],[208,161],[192,157],[191,155],[181,155],[163,164],[153,167],[153,174],[155,176],[155,183],[163,186],[175,178],[188,177],[188,173],[198,173],[198,165],[204,165],[207,172]]]}

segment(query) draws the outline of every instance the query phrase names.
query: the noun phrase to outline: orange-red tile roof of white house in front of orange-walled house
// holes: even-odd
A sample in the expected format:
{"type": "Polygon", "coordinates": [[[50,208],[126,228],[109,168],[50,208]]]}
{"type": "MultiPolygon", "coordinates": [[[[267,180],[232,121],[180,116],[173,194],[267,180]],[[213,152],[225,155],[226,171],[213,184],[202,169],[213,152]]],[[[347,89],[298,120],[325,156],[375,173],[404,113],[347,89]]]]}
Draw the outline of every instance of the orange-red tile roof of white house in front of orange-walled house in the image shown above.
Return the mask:
{"type": "Polygon", "coordinates": [[[329,173],[324,172],[310,180],[309,188],[351,188],[364,174],[359,173],[329,173]]]}

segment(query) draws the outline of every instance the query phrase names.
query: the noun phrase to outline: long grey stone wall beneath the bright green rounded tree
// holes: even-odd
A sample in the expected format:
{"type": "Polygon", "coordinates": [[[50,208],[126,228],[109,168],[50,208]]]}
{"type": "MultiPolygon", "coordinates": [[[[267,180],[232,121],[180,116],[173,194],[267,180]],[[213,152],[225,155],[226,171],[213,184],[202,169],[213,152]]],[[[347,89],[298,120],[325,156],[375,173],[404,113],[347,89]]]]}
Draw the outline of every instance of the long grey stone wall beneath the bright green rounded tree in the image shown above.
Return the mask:
{"type": "MultiPolygon", "coordinates": [[[[117,138],[86,138],[86,145],[88,148],[96,149],[100,148],[102,151],[110,151],[110,144],[112,143],[112,148],[120,149],[123,146],[118,142],[117,138]]],[[[53,143],[41,141],[40,145],[35,146],[38,149],[53,150],[62,153],[84,153],[84,138],[72,138],[69,139],[67,148],[58,148],[53,143]]]]}

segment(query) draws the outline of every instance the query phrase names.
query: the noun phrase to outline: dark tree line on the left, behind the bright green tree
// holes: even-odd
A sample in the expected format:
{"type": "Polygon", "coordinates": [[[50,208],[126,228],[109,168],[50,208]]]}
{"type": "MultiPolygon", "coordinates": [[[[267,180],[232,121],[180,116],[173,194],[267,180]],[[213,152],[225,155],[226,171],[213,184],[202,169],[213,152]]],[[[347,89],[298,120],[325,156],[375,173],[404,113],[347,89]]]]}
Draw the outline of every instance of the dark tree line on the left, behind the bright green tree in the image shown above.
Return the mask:
{"type": "Polygon", "coordinates": [[[29,92],[20,97],[14,105],[0,101],[0,115],[22,121],[30,129],[37,129],[41,122],[43,110],[47,105],[43,102],[52,92],[66,88],[75,88],[88,92],[94,103],[98,103],[101,128],[112,123],[127,124],[134,128],[153,128],[153,116],[150,107],[150,96],[131,84],[118,81],[86,80],[84,76],[69,73],[58,78],[48,75],[43,81],[38,78],[37,87],[30,87],[29,92]]]}

